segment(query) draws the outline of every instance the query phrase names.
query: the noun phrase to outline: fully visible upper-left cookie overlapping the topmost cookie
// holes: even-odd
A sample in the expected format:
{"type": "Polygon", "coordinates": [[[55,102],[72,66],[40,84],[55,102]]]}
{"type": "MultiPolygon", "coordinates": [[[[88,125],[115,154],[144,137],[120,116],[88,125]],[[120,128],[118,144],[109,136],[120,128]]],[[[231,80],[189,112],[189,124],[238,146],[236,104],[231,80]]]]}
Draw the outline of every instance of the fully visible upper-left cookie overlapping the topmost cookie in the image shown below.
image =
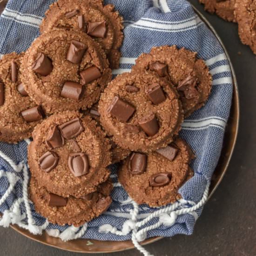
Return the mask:
{"type": "Polygon", "coordinates": [[[32,43],[21,72],[27,93],[47,113],[92,106],[112,76],[108,60],[94,40],[61,29],[32,43]]]}

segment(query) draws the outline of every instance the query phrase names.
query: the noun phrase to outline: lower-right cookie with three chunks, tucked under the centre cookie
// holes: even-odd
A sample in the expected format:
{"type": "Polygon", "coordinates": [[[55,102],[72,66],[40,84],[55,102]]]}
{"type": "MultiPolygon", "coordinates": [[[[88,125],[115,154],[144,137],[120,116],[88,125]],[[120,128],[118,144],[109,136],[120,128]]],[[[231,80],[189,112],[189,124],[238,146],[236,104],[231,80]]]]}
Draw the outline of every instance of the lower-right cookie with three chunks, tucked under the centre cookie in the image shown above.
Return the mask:
{"type": "Polygon", "coordinates": [[[158,207],[181,198],[178,189],[193,176],[189,162],[194,157],[180,138],[157,152],[134,152],[118,172],[118,180],[128,195],[139,204],[158,207]]]}

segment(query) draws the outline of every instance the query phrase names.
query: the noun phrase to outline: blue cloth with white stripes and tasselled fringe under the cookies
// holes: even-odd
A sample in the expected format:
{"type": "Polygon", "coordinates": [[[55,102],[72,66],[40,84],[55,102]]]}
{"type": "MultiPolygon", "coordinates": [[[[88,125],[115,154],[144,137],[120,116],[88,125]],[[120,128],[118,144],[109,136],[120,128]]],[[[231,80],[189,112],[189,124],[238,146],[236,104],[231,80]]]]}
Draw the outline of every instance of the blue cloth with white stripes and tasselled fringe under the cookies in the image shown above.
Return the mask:
{"type": "MultiPolygon", "coordinates": [[[[9,0],[0,17],[0,54],[26,51],[39,36],[40,22],[52,2],[53,0],[9,0]]],[[[113,70],[114,75],[129,71],[141,53],[148,53],[151,47],[162,45],[177,45],[198,52],[199,58],[206,61],[213,75],[209,101],[184,121],[180,132],[181,137],[196,152],[196,158],[191,164],[195,175],[179,190],[183,202],[186,202],[182,207],[191,207],[202,200],[221,153],[233,89],[229,61],[214,34],[186,0],[106,0],[106,4],[110,3],[124,17],[125,26],[121,64],[119,69],[113,70]]],[[[104,215],[84,225],[83,229],[53,225],[37,214],[33,203],[27,200],[27,143],[29,141],[16,145],[0,142],[0,212],[13,214],[5,221],[18,223],[29,230],[33,225],[43,227],[53,236],[58,236],[64,230],[71,230],[73,238],[112,241],[131,239],[131,232],[124,230],[124,227],[132,218],[134,204],[117,181],[116,165],[111,167],[115,186],[111,207],[104,215]],[[104,227],[112,227],[113,230],[104,231],[104,227]],[[120,230],[120,234],[116,230],[120,230]]],[[[137,221],[144,221],[155,211],[159,209],[139,206],[137,221]]],[[[147,237],[189,235],[192,234],[201,212],[202,207],[187,214],[178,214],[175,223],[170,225],[159,222],[159,218],[153,216],[149,221],[141,222],[138,230],[148,227],[147,237]]],[[[3,219],[4,217],[2,225],[7,226],[3,219]]],[[[35,229],[31,232],[33,230],[36,233],[35,229]]]]}

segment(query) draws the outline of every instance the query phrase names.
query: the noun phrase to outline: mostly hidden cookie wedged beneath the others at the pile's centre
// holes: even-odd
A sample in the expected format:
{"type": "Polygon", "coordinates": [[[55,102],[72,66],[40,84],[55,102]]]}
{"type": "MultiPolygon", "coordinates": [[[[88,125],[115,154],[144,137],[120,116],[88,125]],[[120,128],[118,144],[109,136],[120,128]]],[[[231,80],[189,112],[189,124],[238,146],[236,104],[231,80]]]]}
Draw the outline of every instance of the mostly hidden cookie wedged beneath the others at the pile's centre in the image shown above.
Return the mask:
{"type": "MultiPolygon", "coordinates": [[[[98,111],[98,103],[94,104],[94,106],[88,109],[87,114],[90,115],[94,120],[98,121],[100,124],[100,116],[101,114],[98,111]]],[[[125,159],[128,155],[130,155],[131,151],[125,148],[121,148],[115,144],[111,135],[107,136],[108,140],[111,144],[111,153],[112,153],[112,163],[120,162],[125,159]]]]}

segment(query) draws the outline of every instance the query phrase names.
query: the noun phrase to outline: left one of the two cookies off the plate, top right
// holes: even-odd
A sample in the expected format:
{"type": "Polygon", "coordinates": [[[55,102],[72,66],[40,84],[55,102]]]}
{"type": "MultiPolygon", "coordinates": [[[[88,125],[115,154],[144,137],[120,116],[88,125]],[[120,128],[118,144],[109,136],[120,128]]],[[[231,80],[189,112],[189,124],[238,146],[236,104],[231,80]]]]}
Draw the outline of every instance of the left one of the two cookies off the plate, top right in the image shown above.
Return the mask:
{"type": "MultiPolygon", "coordinates": [[[[216,13],[222,19],[236,22],[234,15],[237,0],[199,0],[204,4],[204,9],[209,13],[216,13]]],[[[239,0],[240,2],[240,0],[239,0]]]]}

